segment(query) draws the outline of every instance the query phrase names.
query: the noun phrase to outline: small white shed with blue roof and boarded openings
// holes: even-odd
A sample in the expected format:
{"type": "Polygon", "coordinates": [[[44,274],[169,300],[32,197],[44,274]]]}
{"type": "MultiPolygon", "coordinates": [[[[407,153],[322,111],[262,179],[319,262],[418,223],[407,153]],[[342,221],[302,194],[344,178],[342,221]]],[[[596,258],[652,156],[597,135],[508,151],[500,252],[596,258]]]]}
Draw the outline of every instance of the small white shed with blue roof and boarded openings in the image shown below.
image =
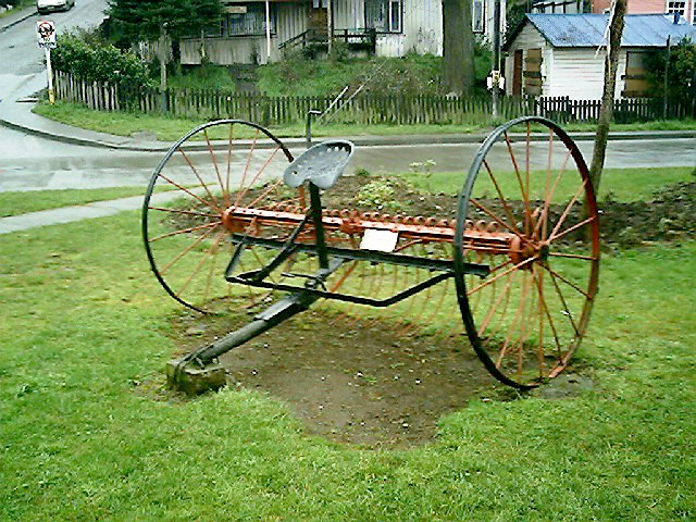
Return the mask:
{"type": "MultiPolygon", "coordinates": [[[[506,94],[601,98],[608,23],[608,14],[527,14],[504,46],[506,94]]],[[[649,95],[644,59],[668,38],[696,40],[696,28],[679,15],[625,16],[616,98],[649,95]]]]}

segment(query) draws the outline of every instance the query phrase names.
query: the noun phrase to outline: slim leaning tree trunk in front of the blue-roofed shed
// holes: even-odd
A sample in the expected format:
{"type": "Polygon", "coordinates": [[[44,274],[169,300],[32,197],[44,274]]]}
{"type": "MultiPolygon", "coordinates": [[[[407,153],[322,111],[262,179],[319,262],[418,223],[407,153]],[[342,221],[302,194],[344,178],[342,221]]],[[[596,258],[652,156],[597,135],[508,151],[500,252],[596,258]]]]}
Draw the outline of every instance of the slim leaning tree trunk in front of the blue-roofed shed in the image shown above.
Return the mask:
{"type": "Polygon", "coordinates": [[[614,2],[613,15],[609,21],[609,52],[605,60],[605,90],[601,96],[597,134],[595,136],[595,149],[592,156],[592,166],[589,167],[589,181],[595,189],[595,194],[599,191],[599,182],[601,179],[601,171],[605,165],[605,154],[607,152],[609,125],[613,116],[617,67],[619,65],[619,52],[621,51],[623,22],[626,14],[626,0],[614,0],[614,2]]]}

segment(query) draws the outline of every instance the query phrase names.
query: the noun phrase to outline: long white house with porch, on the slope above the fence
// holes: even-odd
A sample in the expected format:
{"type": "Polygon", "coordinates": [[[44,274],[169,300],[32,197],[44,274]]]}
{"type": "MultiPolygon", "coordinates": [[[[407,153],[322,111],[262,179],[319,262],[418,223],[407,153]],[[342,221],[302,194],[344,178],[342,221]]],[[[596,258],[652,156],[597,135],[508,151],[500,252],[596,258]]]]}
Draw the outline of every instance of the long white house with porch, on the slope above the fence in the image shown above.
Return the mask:
{"type": "MultiPolygon", "coordinates": [[[[495,0],[472,0],[474,33],[490,39],[495,0]]],[[[505,27],[505,0],[501,0],[505,27]]],[[[442,54],[442,0],[225,1],[220,27],[182,41],[182,63],[268,63],[288,49],[345,41],[381,57],[442,54]]]]}

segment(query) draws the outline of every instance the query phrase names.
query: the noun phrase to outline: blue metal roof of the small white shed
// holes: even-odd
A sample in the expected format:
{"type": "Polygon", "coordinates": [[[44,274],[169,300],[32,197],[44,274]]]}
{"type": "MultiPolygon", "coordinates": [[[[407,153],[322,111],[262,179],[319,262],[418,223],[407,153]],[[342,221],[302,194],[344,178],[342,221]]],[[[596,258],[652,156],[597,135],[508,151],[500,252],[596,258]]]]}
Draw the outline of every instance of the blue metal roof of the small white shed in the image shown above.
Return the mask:
{"type": "MultiPolygon", "coordinates": [[[[599,47],[605,44],[609,15],[527,14],[523,25],[526,23],[532,23],[554,47],[599,47]]],[[[672,44],[684,37],[696,40],[696,28],[683,17],[675,24],[672,14],[626,14],[621,46],[664,47],[668,36],[672,44]]]]}

